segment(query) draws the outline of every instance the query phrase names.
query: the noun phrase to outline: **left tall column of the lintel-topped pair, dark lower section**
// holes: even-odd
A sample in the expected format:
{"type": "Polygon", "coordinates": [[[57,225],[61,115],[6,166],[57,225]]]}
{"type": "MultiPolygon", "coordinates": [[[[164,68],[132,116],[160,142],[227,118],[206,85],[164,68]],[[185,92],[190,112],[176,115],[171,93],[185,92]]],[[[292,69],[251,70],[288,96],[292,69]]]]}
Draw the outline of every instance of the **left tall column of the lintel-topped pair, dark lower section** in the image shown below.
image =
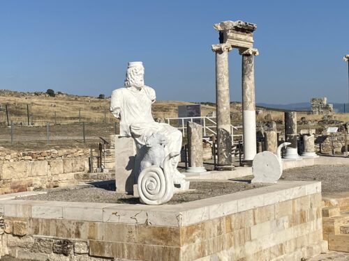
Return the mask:
{"type": "Polygon", "coordinates": [[[228,52],[231,45],[212,45],[216,53],[217,167],[232,169],[228,52]]]}

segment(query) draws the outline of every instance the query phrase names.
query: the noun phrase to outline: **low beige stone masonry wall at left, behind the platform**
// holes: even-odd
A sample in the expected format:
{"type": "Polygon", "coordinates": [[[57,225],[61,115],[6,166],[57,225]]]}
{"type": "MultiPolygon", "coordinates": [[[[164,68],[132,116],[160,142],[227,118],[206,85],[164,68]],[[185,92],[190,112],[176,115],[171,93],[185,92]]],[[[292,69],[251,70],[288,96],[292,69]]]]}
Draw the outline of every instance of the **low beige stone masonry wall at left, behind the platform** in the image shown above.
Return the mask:
{"type": "Polygon", "coordinates": [[[0,195],[77,184],[89,171],[89,150],[45,150],[0,156],[0,195]]]}

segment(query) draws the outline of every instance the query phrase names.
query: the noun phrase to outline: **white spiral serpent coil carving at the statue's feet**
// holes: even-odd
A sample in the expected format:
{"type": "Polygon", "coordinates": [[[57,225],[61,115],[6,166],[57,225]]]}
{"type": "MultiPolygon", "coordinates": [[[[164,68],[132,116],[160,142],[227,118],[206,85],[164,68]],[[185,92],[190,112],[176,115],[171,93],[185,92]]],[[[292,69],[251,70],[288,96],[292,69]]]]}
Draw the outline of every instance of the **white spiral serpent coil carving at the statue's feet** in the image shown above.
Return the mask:
{"type": "Polygon", "coordinates": [[[163,169],[159,166],[149,166],[138,176],[138,193],[143,203],[161,205],[168,202],[174,191],[172,157],[179,155],[171,152],[163,160],[163,169]]]}

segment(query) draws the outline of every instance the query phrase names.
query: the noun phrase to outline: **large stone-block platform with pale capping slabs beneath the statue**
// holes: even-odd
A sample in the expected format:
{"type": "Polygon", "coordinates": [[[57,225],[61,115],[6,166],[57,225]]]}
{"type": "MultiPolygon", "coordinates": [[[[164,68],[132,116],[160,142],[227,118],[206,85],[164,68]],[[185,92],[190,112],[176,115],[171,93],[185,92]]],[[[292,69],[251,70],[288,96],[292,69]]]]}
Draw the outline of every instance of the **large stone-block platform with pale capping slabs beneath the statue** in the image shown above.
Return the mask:
{"type": "Polygon", "coordinates": [[[0,255],[36,260],[297,260],[327,249],[320,182],[179,205],[0,200],[0,255]]]}

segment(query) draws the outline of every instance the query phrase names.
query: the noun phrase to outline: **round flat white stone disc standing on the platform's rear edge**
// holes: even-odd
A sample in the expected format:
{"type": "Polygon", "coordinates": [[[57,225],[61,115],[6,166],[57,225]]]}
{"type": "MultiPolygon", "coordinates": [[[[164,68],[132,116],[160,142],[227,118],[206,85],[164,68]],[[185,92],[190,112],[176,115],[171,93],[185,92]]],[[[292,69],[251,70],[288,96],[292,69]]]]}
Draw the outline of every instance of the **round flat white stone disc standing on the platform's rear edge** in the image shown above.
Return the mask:
{"type": "Polygon", "coordinates": [[[252,182],[275,183],[281,177],[283,169],[278,157],[269,151],[255,155],[252,162],[252,182]]]}

